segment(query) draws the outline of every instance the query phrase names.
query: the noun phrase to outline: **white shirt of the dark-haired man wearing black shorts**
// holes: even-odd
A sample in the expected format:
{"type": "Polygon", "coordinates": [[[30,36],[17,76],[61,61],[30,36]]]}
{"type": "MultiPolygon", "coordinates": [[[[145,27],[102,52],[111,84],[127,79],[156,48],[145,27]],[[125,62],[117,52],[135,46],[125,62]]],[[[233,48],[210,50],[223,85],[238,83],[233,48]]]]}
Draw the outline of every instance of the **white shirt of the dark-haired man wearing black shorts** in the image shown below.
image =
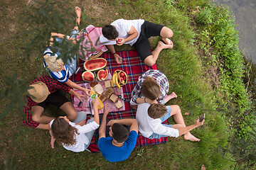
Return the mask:
{"type": "MultiPolygon", "coordinates": [[[[129,37],[129,30],[131,30],[132,26],[137,30],[138,36],[134,38],[133,40],[130,40],[128,42],[125,42],[124,44],[134,45],[134,43],[138,40],[139,35],[142,30],[142,24],[144,23],[143,19],[139,20],[124,20],[124,19],[118,19],[114,22],[112,22],[110,25],[114,26],[117,29],[118,32],[118,38],[127,38],[129,37]]],[[[104,45],[116,45],[116,40],[107,40],[103,35],[100,35],[100,42],[102,42],[104,45]]]]}

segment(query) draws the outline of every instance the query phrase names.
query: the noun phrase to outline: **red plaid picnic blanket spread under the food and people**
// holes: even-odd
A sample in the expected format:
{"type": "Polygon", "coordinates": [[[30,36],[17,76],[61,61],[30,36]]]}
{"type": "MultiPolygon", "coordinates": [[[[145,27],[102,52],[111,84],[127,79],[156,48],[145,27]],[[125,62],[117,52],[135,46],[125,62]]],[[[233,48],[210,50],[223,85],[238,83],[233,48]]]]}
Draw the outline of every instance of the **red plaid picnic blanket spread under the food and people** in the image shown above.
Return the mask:
{"type": "MultiPolygon", "coordinates": [[[[136,118],[136,111],[134,111],[129,102],[132,95],[132,90],[134,86],[137,84],[139,77],[142,73],[146,72],[150,69],[149,66],[143,64],[142,60],[139,58],[136,50],[129,50],[129,51],[122,51],[117,52],[117,54],[122,57],[122,64],[117,64],[114,61],[114,57],[110,52],[104,53],[102,57],[107,60],[107,68],[110,70],[110,73],[113,74],[115,70],[122,69],[124,72],[127,73],[128,81],[127,84],[123,87],[124,98],[127,98],[127,101],[124,102],[125,111],[118,111],[112,112],[108,115],[108,118],[111,119],[123,119],[123,118],[136,118]]],[[[83,62],[79,60],[78,66],[82,67],[83,62]]],[[[156,67],[156,66],[155,66],[156,67]]],[[[82,70],[84,72],[85,69],[82,70]]],[[[70,77],[71,80],[75,81],[76,83],[83,83],[82,81],[82,72],[73,75],[70,77]]],[[[165,121],[164,124],[168,122],[165,121]]],[[[168,137],[161,137],[159,140],[154,139],[150,140],[149,138],[143,137],[140,133],[137,137],[137,144],[136,146],[144,146],[144,145],[156,145],[160,143],[165,143],[168,137]]],[[[94,138],[92,138],[92,142],[94,142],[94,138]]]]}

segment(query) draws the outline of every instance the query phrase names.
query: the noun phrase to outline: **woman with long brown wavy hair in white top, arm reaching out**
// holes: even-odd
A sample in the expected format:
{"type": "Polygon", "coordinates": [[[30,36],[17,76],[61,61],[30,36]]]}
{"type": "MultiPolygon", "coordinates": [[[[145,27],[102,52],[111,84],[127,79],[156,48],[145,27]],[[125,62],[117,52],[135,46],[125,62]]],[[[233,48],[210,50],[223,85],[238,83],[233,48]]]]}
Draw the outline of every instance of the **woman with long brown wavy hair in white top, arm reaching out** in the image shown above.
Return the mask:
{"type": "Polygon", "coordinates": [[[92,101],[94,118],[80,123],[72,123],[66,116],[60,116],[55,120],[50,121],[50,135],[52,136],[51,145],[54,148],[54,141],[56,140],[60,145],[67,150],[73,152],[83,152],[90,145],[92,136],[97,128],[100,126],[100,118],[97,107],[100,105],[98,98],[92,101]]]}

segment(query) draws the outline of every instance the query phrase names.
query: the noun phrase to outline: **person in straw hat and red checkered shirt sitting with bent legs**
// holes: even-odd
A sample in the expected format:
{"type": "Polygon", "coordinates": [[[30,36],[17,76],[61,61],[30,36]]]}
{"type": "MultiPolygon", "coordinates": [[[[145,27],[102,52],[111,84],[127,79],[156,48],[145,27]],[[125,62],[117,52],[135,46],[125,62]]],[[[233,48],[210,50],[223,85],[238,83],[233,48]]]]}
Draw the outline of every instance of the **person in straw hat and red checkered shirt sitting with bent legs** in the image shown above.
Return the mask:
{"type": "Polygon", "coordinates": [[[26,106],[23,106],[26,120],[23,120],[23,124],[31,128],[39,128],[50,130],[50,120],[53,117],[42,115],[48,104],[57,106],[67,114],[69,120],[75,120],[78,116],[77,111],[73,104],[62,93],[65,91],[69,94],[75,95],[77,98],[85,97],[82,94],[78,94],[70,86],[60,83],[56,79],[51,77],[39,77],[38,79],[31,81],[30,89],[28,89],[28,99],[26,106]]]}

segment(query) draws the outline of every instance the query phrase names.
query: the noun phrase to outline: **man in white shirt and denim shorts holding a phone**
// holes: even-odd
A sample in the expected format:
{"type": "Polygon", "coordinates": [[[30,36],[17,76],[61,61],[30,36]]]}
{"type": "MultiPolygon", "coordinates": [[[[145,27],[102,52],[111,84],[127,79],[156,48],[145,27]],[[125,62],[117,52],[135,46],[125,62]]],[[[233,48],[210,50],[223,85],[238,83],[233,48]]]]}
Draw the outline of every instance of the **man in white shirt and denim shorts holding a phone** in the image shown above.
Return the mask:
{"type": "Polygon", "coordinates": [[[160,103],[141,103],[137,108],[136,119],[139,124],[139,132],[144,137],[149,139],[159,139],[160,137],[179,137],[184,135],[185,140],[191,140],[193,142],[199,142],[200,140],[194,137],[189,131],[203,125],[203,121],[196,122],[193,125],[186,127],[181,109],[178,105],[164,106],[160,103]],[[175,125],[162,124],[165,120],[174,116],[175,125]]]}

